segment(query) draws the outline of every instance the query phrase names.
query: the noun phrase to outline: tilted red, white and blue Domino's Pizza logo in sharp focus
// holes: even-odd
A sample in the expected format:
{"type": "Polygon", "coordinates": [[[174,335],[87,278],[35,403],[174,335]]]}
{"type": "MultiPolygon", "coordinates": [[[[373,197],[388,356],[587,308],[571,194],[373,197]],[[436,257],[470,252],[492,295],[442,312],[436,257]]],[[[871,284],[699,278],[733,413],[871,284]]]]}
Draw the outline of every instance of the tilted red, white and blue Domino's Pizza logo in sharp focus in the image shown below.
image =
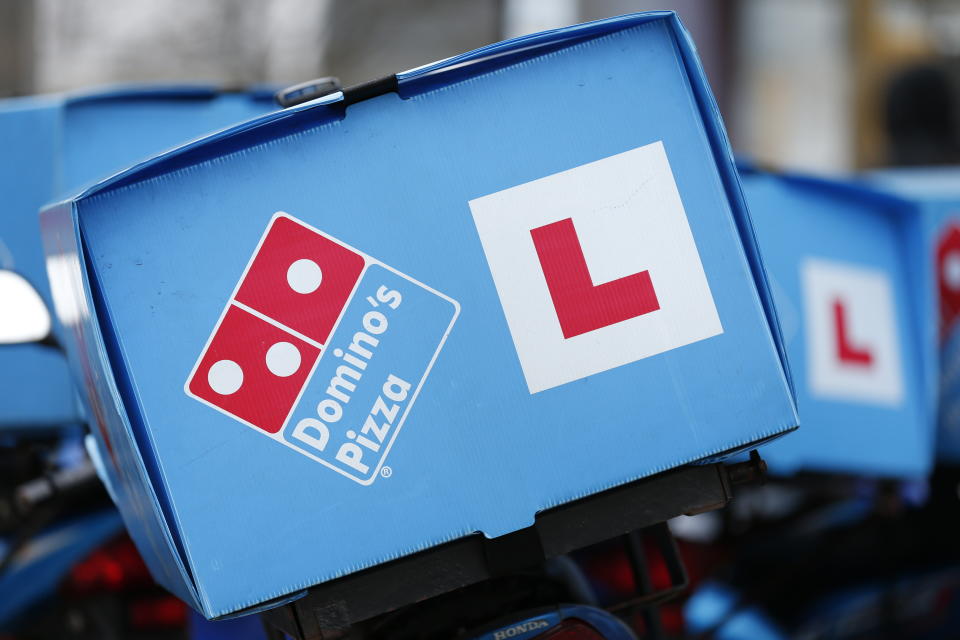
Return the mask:
{"type": "Polygon", "coordinates": [[[277,213],[184,390],[368,485],[459,309],[442,293],[277,213]]]}

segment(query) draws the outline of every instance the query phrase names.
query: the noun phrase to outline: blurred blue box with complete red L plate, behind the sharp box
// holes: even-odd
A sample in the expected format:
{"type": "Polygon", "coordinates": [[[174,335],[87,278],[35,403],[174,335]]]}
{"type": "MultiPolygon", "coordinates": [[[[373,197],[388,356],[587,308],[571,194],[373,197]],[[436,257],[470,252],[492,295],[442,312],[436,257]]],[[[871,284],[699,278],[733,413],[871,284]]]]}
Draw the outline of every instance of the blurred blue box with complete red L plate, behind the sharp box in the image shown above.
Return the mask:
{"type": "Polygon", "coordinates": [[[772,472],[921,477],[933,459],[933,322],[920,314],[903,203],[854,183],[741,171],[803,428],[772,472]]]}

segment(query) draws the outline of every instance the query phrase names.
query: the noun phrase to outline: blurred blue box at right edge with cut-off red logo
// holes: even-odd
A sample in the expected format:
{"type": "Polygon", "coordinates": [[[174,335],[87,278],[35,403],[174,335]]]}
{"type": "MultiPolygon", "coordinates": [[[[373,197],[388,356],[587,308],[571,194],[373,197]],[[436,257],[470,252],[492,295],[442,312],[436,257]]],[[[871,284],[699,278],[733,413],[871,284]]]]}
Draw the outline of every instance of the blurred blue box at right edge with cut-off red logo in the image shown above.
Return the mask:
{"type": "Polygon", "coordinates": [[[938,355],[936,457],[960,463],[960,168],[873,171],[871,188],[902,199],[911,221],[908,248],[914,287],[930,321],[925,340],[938,355]]]}

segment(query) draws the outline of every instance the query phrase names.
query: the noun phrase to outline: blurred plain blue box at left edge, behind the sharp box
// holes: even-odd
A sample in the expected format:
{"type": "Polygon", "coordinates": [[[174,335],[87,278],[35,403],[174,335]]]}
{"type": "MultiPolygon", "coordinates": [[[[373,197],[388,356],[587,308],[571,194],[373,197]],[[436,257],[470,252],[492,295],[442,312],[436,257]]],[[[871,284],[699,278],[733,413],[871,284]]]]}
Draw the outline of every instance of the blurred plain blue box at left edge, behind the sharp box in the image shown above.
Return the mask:
{"type": "MultiPolygon", "coordinates": [[[[40,208],[152,155],[273,109],[265,91],[143,86],[0,100],[0,268],[49,303],[40,208]]],[[[4,313],[16,313],[6,309],[4,313]]],[[[63,355],[46,345],[0,347],[0,428],[82,420],[63,355]]]]}

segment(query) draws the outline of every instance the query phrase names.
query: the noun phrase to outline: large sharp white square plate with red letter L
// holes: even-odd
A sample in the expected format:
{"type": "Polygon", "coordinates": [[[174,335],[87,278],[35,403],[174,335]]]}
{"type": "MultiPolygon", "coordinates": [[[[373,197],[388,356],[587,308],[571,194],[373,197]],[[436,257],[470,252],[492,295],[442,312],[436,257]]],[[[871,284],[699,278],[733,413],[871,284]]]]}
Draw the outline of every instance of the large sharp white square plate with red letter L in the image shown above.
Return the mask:
{"type": "Polygon", "coordinates": [[[530,393],[723,333],[662,142],[470,209],[530,393]]]}

